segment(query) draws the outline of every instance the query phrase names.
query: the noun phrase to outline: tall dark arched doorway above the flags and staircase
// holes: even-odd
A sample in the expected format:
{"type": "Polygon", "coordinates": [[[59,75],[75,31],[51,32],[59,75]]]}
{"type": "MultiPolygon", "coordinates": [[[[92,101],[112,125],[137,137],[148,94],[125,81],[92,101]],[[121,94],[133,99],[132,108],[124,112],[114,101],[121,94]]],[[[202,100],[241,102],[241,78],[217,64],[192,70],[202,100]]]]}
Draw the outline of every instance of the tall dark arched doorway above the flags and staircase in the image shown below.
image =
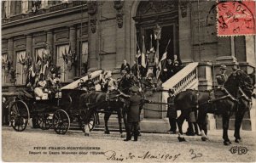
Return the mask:
{"type": "Polygon", "coordinates": [[[150,36],[154,36],[154,26],[160,25],[160,58],[167,48],[167,59],[173,59],[174,54],[177,54],[177,59],[180,59],[178,48],[178,3],[176,1],[143,1],[139,3],[137,14],[133,19],[136,21],[137,42],[140,49],[142,49],[143,45],[143,36],[146,50],[150,49],[151,44],[154,50],[156,49],[156,41],[154,37],[151,40],[150,36]],[[170,43],[166,47],[169,40],[170,43]]]}

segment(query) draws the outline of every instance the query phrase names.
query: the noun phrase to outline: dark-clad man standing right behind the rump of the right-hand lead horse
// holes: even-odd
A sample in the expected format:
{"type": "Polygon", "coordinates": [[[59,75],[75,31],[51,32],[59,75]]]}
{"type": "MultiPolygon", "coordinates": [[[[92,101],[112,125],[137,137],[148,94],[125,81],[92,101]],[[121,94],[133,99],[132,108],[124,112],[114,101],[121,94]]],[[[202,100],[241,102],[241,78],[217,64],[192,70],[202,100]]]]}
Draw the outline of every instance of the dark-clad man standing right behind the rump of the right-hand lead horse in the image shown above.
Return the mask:
{"type": "Polygon", "coordinates": [[[176,118],[177,118],[177,110],[174,106],[174,90],[169,89],[168,91],[169,97],[167,98],[168,103],[168,109],[167,109],[167,117],[169,118],[169,124],[171,126],[170,130],[168,132],[171,132],[172,134],[176,133],[176,118]]]}

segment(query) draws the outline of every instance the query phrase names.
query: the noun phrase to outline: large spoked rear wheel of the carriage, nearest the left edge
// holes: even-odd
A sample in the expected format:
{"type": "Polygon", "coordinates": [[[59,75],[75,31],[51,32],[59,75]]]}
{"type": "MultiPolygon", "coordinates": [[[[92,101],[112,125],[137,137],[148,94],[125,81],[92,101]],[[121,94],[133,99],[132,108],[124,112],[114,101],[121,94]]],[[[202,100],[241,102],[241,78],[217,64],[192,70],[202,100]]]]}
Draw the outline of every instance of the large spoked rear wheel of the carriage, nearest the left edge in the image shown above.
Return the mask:
{"type": "Polygon", "coordinates": [[[29,110],[23,101],[15,101],[10,107],[10,122],[16,132],[22,132],[26,129],[29,120],[29,110]]]}

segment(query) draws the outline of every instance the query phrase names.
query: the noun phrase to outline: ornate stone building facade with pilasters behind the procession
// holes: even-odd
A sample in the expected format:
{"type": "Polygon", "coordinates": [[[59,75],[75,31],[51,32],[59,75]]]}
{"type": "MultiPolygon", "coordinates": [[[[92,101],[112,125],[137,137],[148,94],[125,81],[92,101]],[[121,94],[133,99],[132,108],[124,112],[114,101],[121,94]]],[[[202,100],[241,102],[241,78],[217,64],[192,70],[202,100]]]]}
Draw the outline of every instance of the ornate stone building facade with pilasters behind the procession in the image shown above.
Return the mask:
{"type": "MultiPolygon", "coordinates": [[[[49,46],[52,63],[61,66],[61,81],[71,82],[84,71],[118,71],[123,60],[132,65],[137,50],[156,48],[154,30],[161,27],[160,57],[186,65],[199,62],[199,89],[211,89],[219,66],[237,63],[253,72],[256,37],[217,37],[214,1],[3,1],[2,57],[18,70],[17,85],[26,72],[19,62],[26,54],[37,61],[49,46]],[[63,61],[68,50],[76,59],[71,68],[63,61]]],[[[3,86],[9,82],[2,73],[3,86]]]]}

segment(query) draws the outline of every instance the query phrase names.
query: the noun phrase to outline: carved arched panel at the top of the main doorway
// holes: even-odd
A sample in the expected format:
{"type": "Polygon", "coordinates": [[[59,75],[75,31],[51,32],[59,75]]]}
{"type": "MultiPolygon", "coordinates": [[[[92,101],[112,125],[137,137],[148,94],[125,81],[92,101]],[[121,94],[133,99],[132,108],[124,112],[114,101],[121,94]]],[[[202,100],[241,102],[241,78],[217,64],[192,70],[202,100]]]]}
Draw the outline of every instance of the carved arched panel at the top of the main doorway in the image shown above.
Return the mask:
{"type": "Polygon", "coordinates": [[[156,14],[170,10],[177,10],[177,1],[153,1],[142,2],[137,10],[137,16],[156,14]]]}

